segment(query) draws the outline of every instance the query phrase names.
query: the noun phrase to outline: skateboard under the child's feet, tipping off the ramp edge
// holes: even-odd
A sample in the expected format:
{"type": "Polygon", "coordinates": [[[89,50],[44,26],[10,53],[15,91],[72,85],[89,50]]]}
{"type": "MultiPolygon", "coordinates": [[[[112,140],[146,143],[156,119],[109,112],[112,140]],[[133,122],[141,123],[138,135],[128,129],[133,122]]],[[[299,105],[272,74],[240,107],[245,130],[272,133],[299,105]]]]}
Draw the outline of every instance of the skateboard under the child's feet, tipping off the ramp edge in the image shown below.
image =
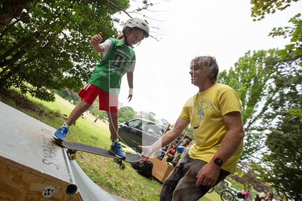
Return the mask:
{"type": "Polygon", "coordinates": [[[84,151],[84,152],[88,152],[88,153],[92,153],[92,154],[97,154],[97,155],[101,155],[101,156],[105,156],[105,157],[110,157],[113,158],[113,161],[117,164],[119,164],[119,168],[121,170],[124,170],[126,168],[126,166],[123,164],[123,160],[126,162],[137,162],[141,160],[141,156],[137,155],[137,154],[126,154],[126,158],[125,159],[121,159],[116,157],[114,154],[110,153],[109,150],[107,149],[103,149],[103,148],[99,148],[99,147],[94,147],[94,146],[90,146],[90,145],[86,145],[86,144],[81,144],[81,143],[76,143],[76,142],[68,142],[68,141],[61,141],[55,137],[53,137],[53,139],[61,146],[61,147],[65,147],[67,149],[67,153],[68,153],[68,158],[70,160],[74,160],[76,157],[76,153],[77,151],[84,151]]]}

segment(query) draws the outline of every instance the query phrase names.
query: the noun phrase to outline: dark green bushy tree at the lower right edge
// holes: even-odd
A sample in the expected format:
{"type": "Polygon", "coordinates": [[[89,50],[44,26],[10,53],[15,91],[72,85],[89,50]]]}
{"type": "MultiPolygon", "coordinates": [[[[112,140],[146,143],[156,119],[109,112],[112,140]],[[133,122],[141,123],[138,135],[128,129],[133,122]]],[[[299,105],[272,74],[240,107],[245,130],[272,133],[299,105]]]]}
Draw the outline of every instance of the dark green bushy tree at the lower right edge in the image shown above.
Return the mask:
{"type": "Polygon", "coordinates": [[[284,111],[276,128],[265,141],[269,151],[262,166],[255,166],[258,177],[292,200],[300,200],[302,187],[302,122],[284,111]]]}

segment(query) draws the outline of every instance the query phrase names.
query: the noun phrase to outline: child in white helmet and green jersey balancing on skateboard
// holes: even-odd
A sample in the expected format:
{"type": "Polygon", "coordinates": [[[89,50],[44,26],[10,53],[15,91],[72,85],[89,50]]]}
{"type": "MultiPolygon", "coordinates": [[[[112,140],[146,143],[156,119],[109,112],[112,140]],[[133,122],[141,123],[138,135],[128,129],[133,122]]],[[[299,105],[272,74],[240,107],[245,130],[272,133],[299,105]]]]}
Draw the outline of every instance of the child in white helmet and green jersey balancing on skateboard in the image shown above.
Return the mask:
{"type": "Polygon", "coordinates": [[[79,92],[82,102],[75,107],[66,122],[54,136],[64,140],[70,126],[89,109],[99,95],[99,109],[106,111],[109,119],[109,130],[112,145],[110,152],[118,158],[125,158],[118,140],[118,94],[122,76],[127,73],[129,85],[129,101],[132,99],[133,71],[135,66],[135,53],[130,47],[140,43],[149,36],[149,27],[146,21],[131,18],[123,26],[122,35],[109,38],[102,42],[102,32],[91,38],[93,49],[103,54],[103,59],[96,65],[94,73],[88,84],[79,92]]]}

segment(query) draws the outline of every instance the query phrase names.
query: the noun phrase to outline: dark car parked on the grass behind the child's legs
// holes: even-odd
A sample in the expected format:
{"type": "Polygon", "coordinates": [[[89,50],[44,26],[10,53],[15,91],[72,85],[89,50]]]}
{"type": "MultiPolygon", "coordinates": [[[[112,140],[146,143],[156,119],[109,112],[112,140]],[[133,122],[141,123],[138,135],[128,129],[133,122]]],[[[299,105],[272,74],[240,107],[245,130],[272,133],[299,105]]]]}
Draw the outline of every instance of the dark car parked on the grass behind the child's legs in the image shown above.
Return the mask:
{"type": "MultiPolygon", "coordinates": [[[[148,146],[154,144],[163,136],[166,129],[166,126],[153,121],[146,119],[132,119],[119,124],[119,140],[141,153],[138,145],[148,146]]],[[[179,139],[181,139],[181,137],[179,139]]],[[[159,150],[155,155],[163,157],[166,151],[167,147],[159,150]]]]}

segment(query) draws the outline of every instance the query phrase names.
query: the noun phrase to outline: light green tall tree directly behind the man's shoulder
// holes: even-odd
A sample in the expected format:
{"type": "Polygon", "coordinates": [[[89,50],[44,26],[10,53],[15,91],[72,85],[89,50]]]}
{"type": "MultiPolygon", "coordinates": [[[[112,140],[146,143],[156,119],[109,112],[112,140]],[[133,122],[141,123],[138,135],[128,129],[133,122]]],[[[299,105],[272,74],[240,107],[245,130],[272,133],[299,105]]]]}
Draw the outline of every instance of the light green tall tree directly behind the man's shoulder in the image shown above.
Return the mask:
{"type": "Polygon", "coordinates": [[[263,132],[258,124],[272,103],[270,88],[272,76],[276,73],[275,65],[280,61],[277,50],[250,51],[239,58],[235,67],[219,73],[218,82],[237,90],[242,100],[242,119],[245,129],[245,146],[242,158],[257,152],[263,132]]]}

